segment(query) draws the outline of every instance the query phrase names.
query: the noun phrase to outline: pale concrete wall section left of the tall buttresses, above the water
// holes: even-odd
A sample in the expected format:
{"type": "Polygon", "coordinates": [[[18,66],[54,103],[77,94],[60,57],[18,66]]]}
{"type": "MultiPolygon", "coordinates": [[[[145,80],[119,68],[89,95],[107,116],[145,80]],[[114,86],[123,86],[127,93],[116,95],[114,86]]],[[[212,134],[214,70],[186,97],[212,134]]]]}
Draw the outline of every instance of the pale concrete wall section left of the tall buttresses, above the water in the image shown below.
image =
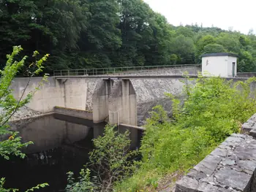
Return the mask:
{"type": "MultiPolygon", "coordinates": [[[[20,99],[20,96],[22,96],[28,80],[28,78],[15,78],[13,80],[11,88],[16,99],[20,99]]],[[[41,80],[41,77],[31,78],[24,96],[37,88],[41,80]]],[[[86,78],[56,80],[54,77],[49,77],[48,82],[44,82],[42,88],[35,93],[27,107],[44,113],[52,112],[55,106],[76,110],[91,110],[92,94],[96,84],[97,80],[86,78]]]]}

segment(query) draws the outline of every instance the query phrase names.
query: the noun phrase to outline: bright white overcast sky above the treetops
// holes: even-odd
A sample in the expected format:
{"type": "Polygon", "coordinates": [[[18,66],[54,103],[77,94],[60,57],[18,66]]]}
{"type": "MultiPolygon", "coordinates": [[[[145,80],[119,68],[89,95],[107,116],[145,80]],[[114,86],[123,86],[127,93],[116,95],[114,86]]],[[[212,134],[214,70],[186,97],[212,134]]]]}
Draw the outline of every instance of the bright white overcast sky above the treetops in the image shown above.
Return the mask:
{"type": "Polygon", "coordinates": [[[255,0],[144,0],[154,11],[165,15],[169,23],[178,26],[203,23],[247,34],[256,32],[255,0]]]}

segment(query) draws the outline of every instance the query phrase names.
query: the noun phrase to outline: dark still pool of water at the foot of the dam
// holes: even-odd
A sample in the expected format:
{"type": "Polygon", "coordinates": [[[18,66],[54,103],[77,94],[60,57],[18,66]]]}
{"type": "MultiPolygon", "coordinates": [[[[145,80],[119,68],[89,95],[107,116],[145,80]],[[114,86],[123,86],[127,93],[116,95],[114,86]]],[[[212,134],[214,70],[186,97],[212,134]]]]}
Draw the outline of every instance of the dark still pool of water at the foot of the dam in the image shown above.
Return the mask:
{"type": "MultiPolygon", "coordinates": [[[[23,141],[32,141],[34,145],[24,149],[24,159],[0,159],[0,177],[7,180],[5,187],[26,191],[39,183],[48,183],[50,187],[39,192],[64,191],[67,172],[78,175],[93,149],[92,139],[103,134],[104,126],[64,115],[45,116],[18,125],[23,141]]],[[[131,147],[138,147],[141,131],[129,131],[131,147]]]]}

